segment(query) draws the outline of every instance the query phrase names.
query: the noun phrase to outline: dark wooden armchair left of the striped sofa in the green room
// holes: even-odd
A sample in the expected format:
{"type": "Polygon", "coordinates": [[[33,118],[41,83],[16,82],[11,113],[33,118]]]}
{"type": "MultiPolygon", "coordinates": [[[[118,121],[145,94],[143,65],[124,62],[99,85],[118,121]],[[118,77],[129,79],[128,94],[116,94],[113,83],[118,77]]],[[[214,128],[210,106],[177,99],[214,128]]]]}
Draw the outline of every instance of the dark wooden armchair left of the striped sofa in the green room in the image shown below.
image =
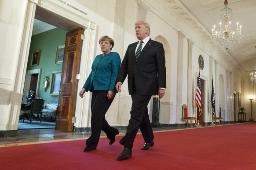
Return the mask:
{"type": "MultiPolygon", "coordinates": [[[[30,110],[25,110],[24,114],[29,113],[30,117],[30,123],[33,118],[33,114],[37,114],[37,121],[38,121],[38,116],[40,114],[40,123],[42,123],[42,110],[44,107],[44,99],[33,99],[31,102],[31,109],[30,110]]],[[[24,119],[23,119],[24,121],[24,119]]]]}

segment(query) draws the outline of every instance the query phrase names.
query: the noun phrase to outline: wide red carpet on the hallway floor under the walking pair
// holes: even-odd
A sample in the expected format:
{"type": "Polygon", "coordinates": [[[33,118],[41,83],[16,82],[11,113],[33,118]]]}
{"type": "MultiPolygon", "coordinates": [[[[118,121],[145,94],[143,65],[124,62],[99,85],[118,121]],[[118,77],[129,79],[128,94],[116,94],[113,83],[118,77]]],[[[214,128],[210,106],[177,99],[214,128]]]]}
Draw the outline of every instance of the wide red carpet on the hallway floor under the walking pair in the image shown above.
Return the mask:
{"type": "Polygon", "coordinates": [[[256,123],[154,133],[155,146],[141,151],[138,134],[132,157],[117,161],[123,146],[101,138],[83,152],[85,140],[0,148],[2,170],[252,170],[256,169],[256,123]]]}

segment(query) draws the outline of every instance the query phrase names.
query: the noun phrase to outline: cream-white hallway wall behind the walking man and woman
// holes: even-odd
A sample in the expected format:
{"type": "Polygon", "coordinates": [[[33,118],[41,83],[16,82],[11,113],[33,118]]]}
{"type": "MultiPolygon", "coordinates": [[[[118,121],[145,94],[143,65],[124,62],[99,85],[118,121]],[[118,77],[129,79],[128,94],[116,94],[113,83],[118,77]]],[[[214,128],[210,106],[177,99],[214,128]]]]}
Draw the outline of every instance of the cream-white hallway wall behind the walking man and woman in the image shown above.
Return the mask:
{"type": "MultiPolygon", "coordinates": [[[[201,25],[194,21],[190,14],[180,6],[178,0],[63,0],[73,6],[79,6],[81,11],[87,13],[82,14],[79,11],[69,8],[64,10],[64,5],[58,0],[40,0],[38,5],[48,10],[62,15],[71,21],[77,22],[78,25],[84,25],[86,39],[84,41],[81,60],[81,79],[79,81],[79,88],[84,84],[96,54],[101,53],[98,46],[98,39],[102,35],[109,35],[115,41],[113,51],[117,51],[121,60],[127,49],[127,46],[137,41],[134,31],[134,23],[137,20],[146,20],[150,23],[151,38],[154,39],[158,35],[165,37],[168,42],[169,50],[167,50],[167,94],[161,99],[160,106],[160,123],[163,124],[180,124],[181,121],[181,106],[187,104],[194,107],[194,92],[196,89],[196,75],[198,72],[198,56],[202,54],[205,59],[205,66],[209,65],[209,57],[212,56],[215,63],[215,79],[216,79],[216,110],[217,106],[221,103],[222,115],[225,114],[225,121],[232,121],[232,99],[227,99],[231,96],[233,90],[241,92],[242,96],[249,94],[249,89],[241,88],[240,85],[234,85],[241,80],[241,71],[233,67],[229,61],[225,60],[222,53],[216,51],[211,43],[208,42],[207,32],[204,33],[206,38],[198,30],[202,30],[201,25]],[[49,7],[53,5],[54,7],[49,7]],[[63,9],[63,10],[62,10],[63,9]],[[107,10],[106,10],[107,9],[107,10]],[[106,12],[107,11],[107,12],[106,12]],[[184,15],[186,17],[184,18],[184,15]],[[182,32],[183,37],[190,39],[193,43],[187,43],[186,39],[181,40],[177,32],[182,32]],[[184,44],[188,46],[183,48],[184,44]],[[193,44],[193,45],[192,45],[193,44]],[[186,51],[187,49],[188,51],[186,51]],[[187,68],[184,66],[187,63],[187,68]],[[184,68],[185,67],[185,68],[184,68]],[[227,72],[226,72],[227,70],[227,72]],[[184,73],[186,72],[186,74],[184,73]],[[235,76],[232,73],[240,73],[235,76]],[[223,89],[219,89],[219,76],[223,75],[223,89]],[[187,88],[180,87],[184,85],[182,81],[187,80],[187,88]],[[223,93],[223,98],[219,98],[219,93],[223,93]],[[184,99],[184,97],[186,99],[184,99]],[[225,100],[225,101],[222,101],[225,100]],[[185,103],[187,101],[187,103],[185,103]],[[227,111],[226,111],[227,110],[227,111]]],[[[0,115],[0,131],[13,130],[18,127],[19,104],[22,100],[23,85],[26,74],[27,54],[30,43],[31,28],[33,24],[33,17],[35,14],[35,7],[37,1],[1,1],[0,20],[2,32],[2,39],[10,40],[15,39],[15,43],[5,41],[5,48],[2,48],[1,67],[0,71],[0,90],[1,99],[7,99],[7,103],[0,103],[0,110],[5,114],[0,115]],[[16,9],[17,8],[17,9],[16,9]],[[11,11],[6,10],[11,9],[11,11]],[[26,11],[27,10],[27,11],[26,11]],[[5,11],[5,12],[4,12],[5,11]],[[8,19],[8,20],[7,20],[8,19]],[[25,21],[26,20],[26,21],[25,21]],[[15,31],[13,31],[15,30],[15,31]],[[15,32],[15,34],[13,34],[15,32]],[[9,56],[10,60],[5,57],[9,56]],[[11,62],[11,63],[10,63],[11,62]],[[6,69],[6,66],[8,69],[6,69]],[[20,73],[20,74],[17,74],[20,73]],[[3,96],[5,95],[5,96],[3,96]]],[[[2,47],[3,47],[2,46],[2,47]]],[[[201,71],[201,76],[205,79],[205,98],[209,100],[211,74],[208,67],[201,71]]],[[[248,79],[245,79],[246,87],[249,85],[248,79]]],[[[252,89],[253,90],[253,89],[252,89]]],[[[254,92],[255,94],[255,92],[254,92]]],[[[77,98],[76,127],[89,127],[90,126],[90,94],[88,93],[84,99],[77,98]]],[[[247,99],[247,96],[243,96],[247,99]]],[[[243,98],[243,99],[244,99],[243,98]]],[[[244,99],[246,109],[250,110],[248,101],[244,99]]],[[[2,100],[1,100],[2,101],[2,100]]],[[[4,100],[3,100],[4,101],[4,100]]],[[[152,101],[151,101],[152,102],[152,101]]],[[[113,105],[110,107],[106,118],[113,125],[127,125],[130,119],[130,110],[132,106],[131,97],[128,95],[127,81],[124,81],[122,92],[118,93],[113,105]]],[[[209,101],[205,103],[205,115],[208,122],[211,113],[208,109],[210,107],[209,101]]],[[[149,105],[150,108],[150,105],[149,105]]],[[[193,116],[194,108],[190,110],[189,114],[193,116]]],[[[151,110],[150,110],[151,112],[151,110]]],[[[254,115],[255,116],[255,115],[254,115]]],[[[247,117],[248,119],[248,117],[247,117]]],[[[256,118],[255,118],[256,119],[256,118]]]]}

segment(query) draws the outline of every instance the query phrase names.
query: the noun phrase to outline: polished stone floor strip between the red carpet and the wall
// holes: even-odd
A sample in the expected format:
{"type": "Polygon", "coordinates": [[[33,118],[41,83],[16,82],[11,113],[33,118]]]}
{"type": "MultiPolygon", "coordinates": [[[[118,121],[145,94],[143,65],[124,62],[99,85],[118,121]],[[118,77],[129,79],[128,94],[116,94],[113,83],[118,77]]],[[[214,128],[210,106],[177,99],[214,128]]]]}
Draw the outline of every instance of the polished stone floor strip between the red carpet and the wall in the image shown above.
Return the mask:
{"type": "MultiPolygon", "coordinates": [[[[225,124],[225,123],[223,123],[225,124]]],[[[219,124],[216,124],[219,126],[219,124]]],[[[153,131],[167,131],[167,130],[177,130],[177,129],[186,129],[186,128],[196,128],[193,127],[153,127],[153,131]]],[[[119,130],[120,134],[124,134],[125,130],[119,130]]],[[[67,140],[70,138],[88,138],[91,135],[90,132],[66,132],[58,131],[55,128],[45,128],[45,129],[20,129],[17,132],[16,137],[9,138],[0,138],[0,144],[11,144],[11,143],[21,143],[21,142],[39,142],[39,141],[48,141],[48,140],[67,140]]],[[[102,132],[101,135],[106,135],[102,132]]]]}

